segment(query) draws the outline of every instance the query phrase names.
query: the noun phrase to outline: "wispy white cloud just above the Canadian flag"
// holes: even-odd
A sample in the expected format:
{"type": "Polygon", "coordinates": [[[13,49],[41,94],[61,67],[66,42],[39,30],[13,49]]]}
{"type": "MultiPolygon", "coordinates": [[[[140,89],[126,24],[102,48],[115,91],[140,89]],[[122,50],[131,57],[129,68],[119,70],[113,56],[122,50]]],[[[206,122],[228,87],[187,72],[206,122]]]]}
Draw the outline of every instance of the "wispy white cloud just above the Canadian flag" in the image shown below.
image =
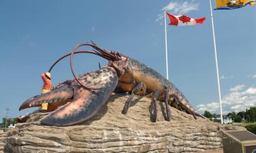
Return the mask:
{"type": "MultiPolygon", "coordinates": [[[[162,11],[166,10],[174,15],[182,15],[191,11],[196,11],[199,8],[199,3],[195,3],[195,1],[171,1],[165,7],[162,7],[162,11]]],[[[164,18],[164,14],[158,14],[156,18],[156,22],[164,18]]]]}

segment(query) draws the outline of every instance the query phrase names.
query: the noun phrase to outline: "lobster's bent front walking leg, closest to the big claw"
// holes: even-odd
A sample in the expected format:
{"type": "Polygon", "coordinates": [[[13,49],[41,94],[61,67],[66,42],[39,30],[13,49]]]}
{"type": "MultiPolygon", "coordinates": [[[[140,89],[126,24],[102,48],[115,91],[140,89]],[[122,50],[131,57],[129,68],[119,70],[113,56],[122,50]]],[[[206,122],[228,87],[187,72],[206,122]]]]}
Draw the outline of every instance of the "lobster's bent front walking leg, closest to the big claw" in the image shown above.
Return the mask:
{"type": "MultiPolygon", "coordinates": [[[[134,97],[134,95],[139,95],[139,93],[141,92],[142,88],[145,88],[145,84],[143,84],[142,82],[137,84],[137,86],[135,86],[132,89],[132,92],[130,93],[129,98],[127,99],[126,103],[124,104],[124,109],[122,110],[122,114],[127,114],[128,112],[128,108],[130,105],[130,101],[132,100],[132,97],[134,97]]],[[[144,92],[145,93],[145,92],[144,92]]]]}

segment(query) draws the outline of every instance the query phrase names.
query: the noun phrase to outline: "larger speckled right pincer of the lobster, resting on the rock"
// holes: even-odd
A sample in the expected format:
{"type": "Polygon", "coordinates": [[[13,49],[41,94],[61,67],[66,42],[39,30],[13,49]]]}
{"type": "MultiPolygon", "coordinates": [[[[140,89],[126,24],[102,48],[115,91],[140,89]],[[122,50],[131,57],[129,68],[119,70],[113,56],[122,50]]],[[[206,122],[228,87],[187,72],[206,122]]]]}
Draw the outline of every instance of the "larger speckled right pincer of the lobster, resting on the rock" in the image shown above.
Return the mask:
{"type": "Polygon", "coordinates": [[[98,85],[101,89],[87,90],[76,83],[73,101],[42,118],[42,124],[69,126],[88,120],[109,98],[117,86],[118,78],[113,68],[103,67],[98,71],[81,75],[79,81],[87,86],[98,85]]]}

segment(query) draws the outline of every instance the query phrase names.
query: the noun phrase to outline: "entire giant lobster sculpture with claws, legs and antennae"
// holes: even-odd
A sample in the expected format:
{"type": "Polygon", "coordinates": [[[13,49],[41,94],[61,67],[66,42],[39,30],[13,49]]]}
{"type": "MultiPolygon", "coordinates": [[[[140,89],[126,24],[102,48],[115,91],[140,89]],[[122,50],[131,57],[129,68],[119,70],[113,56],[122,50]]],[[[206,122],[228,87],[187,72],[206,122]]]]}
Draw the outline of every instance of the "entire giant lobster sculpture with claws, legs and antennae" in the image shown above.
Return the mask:
{"type": "MultiPolygon", "coordinates": [[[[51,92],[32,97],[20,105],[19,110],[39,107],[42,103],[49,103],[54,109],[57,108],[40,120],[42,124],[70,126],[89,120],[98,112],[112,92],[130,93],[130,97],[124,103],[122,114],[127,114],[130,101],[134,95],[146,95],[152,98],[153,122],[156,122],[157,118],[156,100],[165,102],[168,121],[171,120],[169,105],[193,115],[195,119],[196,116],[201,116],[195,112],[195,109],[189,105],[182,92],[171,82],[154,69],[128,56],[118,52],[109,52],[99,48],[94,43],[80,44],[70,54],[66,54],[62,58],[66,56],[70,56],[70,66],[74,80],[62,82],[51,92]],[[76,51],[81,46],[91,46],[94,50],[76,51]],[[76,77],[72,66],[72,56],[77,53],[96,54],[108,60],[109,64],[104,65],[98,71],[76,77]]],[[[204,116],[201,117],[204,118],[204,116]]]]}

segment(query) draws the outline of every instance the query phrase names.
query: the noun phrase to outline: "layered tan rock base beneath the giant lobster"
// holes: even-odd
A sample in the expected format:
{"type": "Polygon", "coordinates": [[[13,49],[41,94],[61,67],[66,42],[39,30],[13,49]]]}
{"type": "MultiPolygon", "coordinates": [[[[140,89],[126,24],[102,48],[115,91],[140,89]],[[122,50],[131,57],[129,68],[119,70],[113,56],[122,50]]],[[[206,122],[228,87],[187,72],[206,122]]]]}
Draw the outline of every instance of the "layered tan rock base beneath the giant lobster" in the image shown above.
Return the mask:
{"type": "Polygon", "coordinates": [[[199,152],[222,147],[221,131],[241,129],[193,119],[171,107],[165,120],[158,101],[158,120],[150,121],[150,99],[134,97],[127,115],[121,114],[128,96],[112,95],[91,120],[76,126],[43,126],[45,114],[32,114],[26,123],[6,132],[12,152],[199,152]]]}

